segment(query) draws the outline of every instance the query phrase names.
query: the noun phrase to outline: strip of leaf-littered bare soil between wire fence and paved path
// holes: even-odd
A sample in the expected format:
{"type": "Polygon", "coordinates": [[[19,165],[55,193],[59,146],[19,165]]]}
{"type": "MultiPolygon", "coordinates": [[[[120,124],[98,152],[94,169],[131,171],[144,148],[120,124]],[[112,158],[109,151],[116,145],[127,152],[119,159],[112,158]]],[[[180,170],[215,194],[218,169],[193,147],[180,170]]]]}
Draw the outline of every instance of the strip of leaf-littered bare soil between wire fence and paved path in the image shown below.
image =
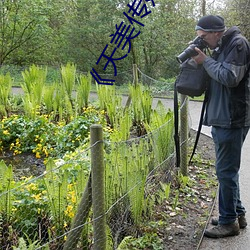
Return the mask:
{"type": "MultiPolygon", "coordinates": [[[[191,147],[195,134],[196,132],[191,131],[191,147]]],[[[188,170],[192,183],[182,189],[179,187],[176,209],[173,209],[171,202],[158,207],[161,213],[164,212],[167,215],[167,227],[159,230],[159,235],[162,235],[164,242],[164,250],[199,249],[217,194],[218,183],[214,162],[213,141],[210,137],[201,134],[196,157],[188,170]]],[[[172,195],[172,199],[175,199],[175,195],[172,195]]]]}

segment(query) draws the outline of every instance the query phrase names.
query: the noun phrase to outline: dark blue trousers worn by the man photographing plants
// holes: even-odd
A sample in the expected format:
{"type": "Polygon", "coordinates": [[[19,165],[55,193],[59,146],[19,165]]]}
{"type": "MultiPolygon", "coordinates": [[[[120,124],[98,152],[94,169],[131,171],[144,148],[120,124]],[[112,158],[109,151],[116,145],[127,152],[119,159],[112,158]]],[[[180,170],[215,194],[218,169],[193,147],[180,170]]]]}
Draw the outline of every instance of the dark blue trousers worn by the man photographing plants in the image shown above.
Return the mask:
{"type": "Polygon", "coordinates": [[[241,149],[249,127],[212,127],[215,143],[216,175],[219,181],[219,223],[230,224],[245,214],[240,200],[239,169],[241,149]]]}

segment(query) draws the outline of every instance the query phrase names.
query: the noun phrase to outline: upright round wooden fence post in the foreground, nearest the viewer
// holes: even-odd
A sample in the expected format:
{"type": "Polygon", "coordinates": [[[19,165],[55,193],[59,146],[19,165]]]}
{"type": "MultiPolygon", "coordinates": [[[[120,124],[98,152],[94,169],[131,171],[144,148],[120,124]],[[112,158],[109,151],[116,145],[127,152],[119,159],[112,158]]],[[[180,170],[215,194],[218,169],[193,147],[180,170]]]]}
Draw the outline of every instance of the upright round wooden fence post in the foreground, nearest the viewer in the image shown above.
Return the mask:
{"type": "Polygon", "coordinates": [[[94,124],[90,127],[91,141],[91,175],[93,205],[93,250],[106,249],[106,216],[104,193],[104,151],[102,126],[94,124]]]}

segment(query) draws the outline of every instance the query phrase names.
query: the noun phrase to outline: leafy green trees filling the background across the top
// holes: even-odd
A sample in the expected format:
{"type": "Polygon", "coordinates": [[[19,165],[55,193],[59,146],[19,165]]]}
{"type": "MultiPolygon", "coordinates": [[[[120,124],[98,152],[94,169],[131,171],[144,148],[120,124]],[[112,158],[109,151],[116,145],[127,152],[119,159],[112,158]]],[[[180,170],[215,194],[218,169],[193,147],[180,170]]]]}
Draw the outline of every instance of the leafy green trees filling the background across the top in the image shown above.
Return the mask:
{"type": "MultiPolygon", "coordinates": [[[[3,1],[0,5],[3,10],[0,64],[61,65],[70,61],[81,71],[88,72],[105,44],[110,43],[109,36],[115,33],[115,25],[124,21],[127,3],[118,0],[18,0],[15,4],[3,1]]],[[[175,57],[195,37],[197,17],[222,13],[233,25],[239,21],[244,24],[248,17],[246,8],[241,8],[244,2],[228,1],[220,5],[207,2],[206,13],[202,13],[194,0],[158,0],[155,7],[150,2],[146,4],[151,13],[143,18],[144,27],[135,26],[141,33],[132,40],[131,53],[125,60],[116,61],[118,73],[121,73],[119,83],[128,82],[123,72],[131,70],[133,63],[155,79],[176,76],[179,64],[175,57]]],[[[242,28],[247,31],[246,25],[242,28]]],[[[117,58],[125,55],[126,49],[117,50],[117,58]]],[[[102,71],[104,62],[101,60],[96,66],[98,72],[102,71]]],[[[113,74],[113,68],[107,67],[105,73],[113,74]]],[[[129,80],[132,81],[132,77],[129,80]]]]}

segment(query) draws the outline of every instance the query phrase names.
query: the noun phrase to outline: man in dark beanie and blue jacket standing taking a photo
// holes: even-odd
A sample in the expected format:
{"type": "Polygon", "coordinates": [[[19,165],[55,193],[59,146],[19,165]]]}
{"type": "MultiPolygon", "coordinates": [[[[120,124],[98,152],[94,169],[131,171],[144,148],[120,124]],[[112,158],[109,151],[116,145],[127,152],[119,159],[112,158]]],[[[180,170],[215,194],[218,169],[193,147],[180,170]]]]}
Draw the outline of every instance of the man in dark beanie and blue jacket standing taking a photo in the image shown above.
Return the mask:
{"type": "Polygon", "coordinates": [[[212,126],[219,181],[219,218],[205,235],[221,238],[239,234],[247,226],[240,200],[239,169],[241,149],[250,126],[250,47],[237,27],[225,29],[220,16],[202,17],[196,33],[203,38],[212,56],[195,48],[193,59],[203,64],[210,76],[204,125],[212,126]]]}

